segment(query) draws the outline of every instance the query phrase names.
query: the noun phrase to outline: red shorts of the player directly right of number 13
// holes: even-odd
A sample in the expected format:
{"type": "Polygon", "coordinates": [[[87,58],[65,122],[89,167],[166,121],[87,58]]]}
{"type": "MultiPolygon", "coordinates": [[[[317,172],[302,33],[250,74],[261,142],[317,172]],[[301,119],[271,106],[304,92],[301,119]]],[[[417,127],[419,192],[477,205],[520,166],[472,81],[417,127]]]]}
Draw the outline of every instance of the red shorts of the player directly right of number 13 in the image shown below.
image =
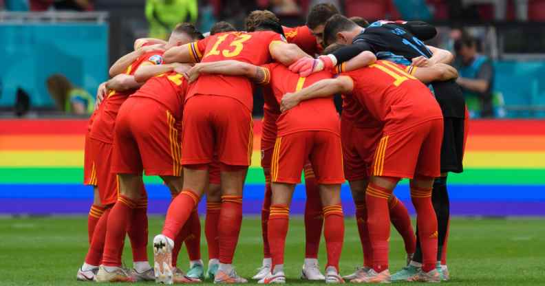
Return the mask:
{"type": "Polygon", "coordinates": [[[297,184],[310,159],[318,184],[343,184],[341,138],[327,131],[301,131],[278,137],[271,163],[273,182],[297,184]]]}

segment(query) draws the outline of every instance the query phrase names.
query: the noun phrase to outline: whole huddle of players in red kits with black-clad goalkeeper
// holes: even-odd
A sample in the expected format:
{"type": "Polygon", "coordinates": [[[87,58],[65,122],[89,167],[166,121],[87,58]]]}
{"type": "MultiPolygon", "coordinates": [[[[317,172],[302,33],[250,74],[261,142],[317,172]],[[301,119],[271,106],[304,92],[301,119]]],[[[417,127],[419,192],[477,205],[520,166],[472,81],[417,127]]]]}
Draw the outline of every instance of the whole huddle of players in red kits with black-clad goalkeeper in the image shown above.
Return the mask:
{"type": "Polygon", "coordinates": [[[449,279],[447,173],[462,172],[467,111],[452,55],[423,41],[420,21],[348,19],[333,5],[312,7],[306,25],[286,28],[272,12],[246,18],[245,32],[219,22],[204,37],[180,23],[168,41],[138,39],[110,68],[85,138],[85,184],[95,186],[89,250],[81,281],[246,283],[233,256],[242,190],[253,151],[253,94],[264,96],[261,212],[264,259],[258,283],[286,283],[290,203],[304,173],[306,253],[301,278],[326,283],[440,282],[449,279]],[[321,54],[317,58],[315,56],[321,54]],[[343,110],[333,97],[341,94],[343,110]],[[147,257],[142,174],[160,176],[172,201],[147,257]],[[410,180],[416,232],[393,194],[410,180]],[[341,276],[341,184],[356,206],[363,265],[341,276]],[[197,204],[206,197],[206,271],[197,204]],[[407,266],[390,274],[390,223],[407,266]],[[318,263],[321,233],[327,262],[318,263]],[[133,269],[122,267],[125,236],[133,269]],[[185,243],[190,268],[177,267],[185,243]]]}

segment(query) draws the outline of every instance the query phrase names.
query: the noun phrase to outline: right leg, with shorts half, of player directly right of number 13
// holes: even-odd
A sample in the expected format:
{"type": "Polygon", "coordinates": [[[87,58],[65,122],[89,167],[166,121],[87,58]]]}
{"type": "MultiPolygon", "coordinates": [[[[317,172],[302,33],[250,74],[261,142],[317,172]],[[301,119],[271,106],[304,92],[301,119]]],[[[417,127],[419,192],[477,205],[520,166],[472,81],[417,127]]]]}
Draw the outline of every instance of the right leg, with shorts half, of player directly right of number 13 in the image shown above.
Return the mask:
{"type": "Polygon", "coordinates": [[[344,239],[341,184],[345,181],[341,138],[334,133],[314,131],[313,143],[309,158],[320,188],[324,220],[323,234],[328,252],[325,282],[344,283],[339,275],[339,259],[344,239]]]}

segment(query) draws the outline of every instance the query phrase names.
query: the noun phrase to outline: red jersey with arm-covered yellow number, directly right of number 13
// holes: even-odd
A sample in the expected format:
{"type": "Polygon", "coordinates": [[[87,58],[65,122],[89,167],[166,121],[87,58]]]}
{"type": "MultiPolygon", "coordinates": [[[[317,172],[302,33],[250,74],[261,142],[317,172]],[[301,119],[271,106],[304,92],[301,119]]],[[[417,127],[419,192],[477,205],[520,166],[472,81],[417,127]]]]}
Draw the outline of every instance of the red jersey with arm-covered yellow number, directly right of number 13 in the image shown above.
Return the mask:
{"type": "MultiPolygon", "coordinates": [[[[301,90],[319,80],[332,77],[330,72],[318,72],[307,78],[301,78],[299,74],[290,72],[286,66],[279,63],[263,67],[270,74],[270,87],[278,103],[288,92],[301,90]]],[[[279,116],[277,126],[278,136],[299,131],[329,131],[339,135],[339,114],[333,103],[333,95],[329,98],[314,98],[300,102],[279,116]]]]}

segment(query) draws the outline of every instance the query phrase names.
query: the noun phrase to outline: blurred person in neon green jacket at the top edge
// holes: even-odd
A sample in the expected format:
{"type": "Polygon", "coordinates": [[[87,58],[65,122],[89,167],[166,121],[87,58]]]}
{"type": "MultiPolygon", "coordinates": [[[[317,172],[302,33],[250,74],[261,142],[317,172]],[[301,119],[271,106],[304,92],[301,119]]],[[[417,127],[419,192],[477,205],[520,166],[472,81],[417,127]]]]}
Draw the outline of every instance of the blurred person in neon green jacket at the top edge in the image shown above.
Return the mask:
{"type": "Polygon", "coordinates": [[[197,0],[147,0],[149,36],[166,40],[176,24],[197,22],[197,0]]]}

